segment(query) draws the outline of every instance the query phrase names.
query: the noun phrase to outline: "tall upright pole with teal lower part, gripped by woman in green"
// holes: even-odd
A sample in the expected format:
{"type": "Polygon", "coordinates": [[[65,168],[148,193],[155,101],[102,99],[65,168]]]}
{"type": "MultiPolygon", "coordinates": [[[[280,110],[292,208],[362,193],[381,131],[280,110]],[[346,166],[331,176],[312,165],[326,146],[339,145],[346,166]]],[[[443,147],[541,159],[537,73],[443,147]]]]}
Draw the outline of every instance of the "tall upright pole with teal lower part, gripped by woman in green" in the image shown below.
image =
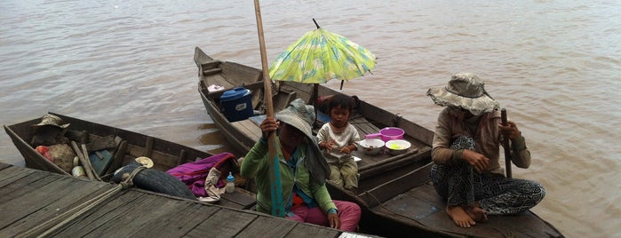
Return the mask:
{"type": "MultiPolygon", "coordinates": [[[[254,9],[257,15],[257,31],[259,32],[259,48],[261,51],[261,65],[263,69],[263,91],[265,91],[265,103],[267,109],[267,117],[274,118],[274,105],[272,102],[272,80],[269,78],[269,67],[267,67],[266,43],[263,39],[263,23],[261,20],[261,7],[259,0],[254,0],[254,9]]],[[[269,133],[267,145],[269,147],[269,182],[272,197],[272,215],[276,217],[284,217],[283,205],[283,184],[281,183],[280,168],[278,165],[278,155],[275,149],[276,134],[269,133]]]]}

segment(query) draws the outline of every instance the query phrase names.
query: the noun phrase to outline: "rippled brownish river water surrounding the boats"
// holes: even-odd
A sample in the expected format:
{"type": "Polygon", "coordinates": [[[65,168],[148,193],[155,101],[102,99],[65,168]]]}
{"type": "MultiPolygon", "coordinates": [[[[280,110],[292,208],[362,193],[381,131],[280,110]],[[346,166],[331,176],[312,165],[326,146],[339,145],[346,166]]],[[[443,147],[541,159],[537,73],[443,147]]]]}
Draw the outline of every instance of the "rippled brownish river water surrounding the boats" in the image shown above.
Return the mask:
{"type": "MultiPolygon", "coordinates": [[[[314,18],[378,56],[344,92],[432,130],[441,107],[426,90],[480,75],[533,155],[514,177],[547,188],[533,211],[568,237],[621,235],[618,12],[619,1],[602,0],[261,3],[268,61],[314,18]]],[[[2,1],[0,123],[51,111],[227,151],[196,91],[195,46],[261,67],[254,4],[2,1]]],[[[23,166],[5,133],[0,160],[23,166]]]]}

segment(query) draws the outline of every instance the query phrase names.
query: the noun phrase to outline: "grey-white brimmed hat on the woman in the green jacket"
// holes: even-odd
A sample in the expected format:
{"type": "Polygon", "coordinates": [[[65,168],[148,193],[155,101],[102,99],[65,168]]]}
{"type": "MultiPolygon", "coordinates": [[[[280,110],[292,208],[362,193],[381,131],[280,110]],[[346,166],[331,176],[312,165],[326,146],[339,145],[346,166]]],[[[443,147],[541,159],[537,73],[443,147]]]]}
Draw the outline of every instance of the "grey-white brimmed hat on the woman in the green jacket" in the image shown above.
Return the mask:
{"type": "Polygon", "coordinates": [[[307,105],[302,99],[291,101],[289,107],[276,113],[275,117],[302,131],[307,138],[313,139],[311,125],[314,123],[314,107],[307,105]]]}

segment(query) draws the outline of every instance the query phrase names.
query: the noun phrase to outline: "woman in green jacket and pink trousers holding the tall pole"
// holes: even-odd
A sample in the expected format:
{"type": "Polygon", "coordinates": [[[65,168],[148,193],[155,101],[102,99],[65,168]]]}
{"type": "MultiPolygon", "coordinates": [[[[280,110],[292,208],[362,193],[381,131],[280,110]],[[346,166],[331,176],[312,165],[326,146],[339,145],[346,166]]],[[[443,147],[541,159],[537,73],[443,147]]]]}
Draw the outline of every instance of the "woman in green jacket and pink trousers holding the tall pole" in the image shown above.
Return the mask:
{"type": "Polygon", "coordinates": [[[314,108],[295,99],[275,118],[278,121],[268,117],[261,123],[263,137],[242,162],[241,175],[255,178],[257,183],[257,210],[272,210],[267,134],[276,131],[285,218],[354,231],[362,215],[360,207],[354,202],[332,200],[325,186],[330,169],[311,131],[314,108]]]}

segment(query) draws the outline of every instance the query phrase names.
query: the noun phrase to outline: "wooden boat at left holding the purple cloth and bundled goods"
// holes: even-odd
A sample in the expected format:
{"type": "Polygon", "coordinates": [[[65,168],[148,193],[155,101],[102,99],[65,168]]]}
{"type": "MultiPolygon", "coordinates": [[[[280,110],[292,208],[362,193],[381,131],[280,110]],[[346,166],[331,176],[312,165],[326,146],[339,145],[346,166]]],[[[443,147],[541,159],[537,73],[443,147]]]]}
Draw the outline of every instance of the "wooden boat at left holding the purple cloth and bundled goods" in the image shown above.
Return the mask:
{"type": "MultiPolygon", "coordinates": [[[[76,134],[76,131],[85,131],[80,134],[82,137],[90,138],[90,141],[101,141],[105,138],[115,138],[118,143],[110,148],[112,152],[111,162],[102,171],[100,177],[103,181],[109,181],[112,174],[117,169],[123,167],[140,156],[146,156],[153,162],[155,171],[168,171],[182,163],[195,162],[198,159],[210,157],[212,154],[203,152],[192,147],[185,147],[164,139],[157,139],[133,131],[92,123],[67,115],[49,113],[59,116],[63,123],[69,123],[67,137],[69,134],[76,134]]],[[[33,125],[41,122],[41,117],[9,126],[4,125],[4,131],[11,137],[13,144],[23,155],[26,167],[40,171],[51,171],[63,175],[71,176],[71,173],[60,168],[57,163],[52,163],[31,147],[30,141],[35,136],[33,125]]],[[[84,141],[83,141],[84,142],[84,141]]],[[[92,146],[92,143],[89,145],[92,146]]],[[[88,150],[88,149],[87,149],[88,150]]],[[[233,165],[234,166],[234,165],[233,165]]],[[[175,181],[176,182],[176,181],[175,181]]],[[[150,189],[147,189],[150,190],[150,189]]],[[[235,188],[238,193],[223,194],[219,205],[235,209],[250,209],[256,203],[255,195],[243,188],[235,188]]],[[[154,191],[154,190],[151,190],[154,191]]]]}

